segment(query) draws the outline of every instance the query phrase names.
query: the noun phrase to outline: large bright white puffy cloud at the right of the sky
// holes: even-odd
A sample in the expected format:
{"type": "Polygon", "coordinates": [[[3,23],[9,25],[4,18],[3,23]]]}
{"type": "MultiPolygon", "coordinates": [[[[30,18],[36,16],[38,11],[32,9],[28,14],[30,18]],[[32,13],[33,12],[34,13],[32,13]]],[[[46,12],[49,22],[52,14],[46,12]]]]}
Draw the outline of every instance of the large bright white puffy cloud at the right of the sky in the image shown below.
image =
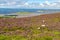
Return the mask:
{"type": "Polygon", "coordinates": [[[59,8],[60,7],[60,2],[49,2],[45,1],[43,3],[40,3],[41,7],[45,8],[59,8]]]}

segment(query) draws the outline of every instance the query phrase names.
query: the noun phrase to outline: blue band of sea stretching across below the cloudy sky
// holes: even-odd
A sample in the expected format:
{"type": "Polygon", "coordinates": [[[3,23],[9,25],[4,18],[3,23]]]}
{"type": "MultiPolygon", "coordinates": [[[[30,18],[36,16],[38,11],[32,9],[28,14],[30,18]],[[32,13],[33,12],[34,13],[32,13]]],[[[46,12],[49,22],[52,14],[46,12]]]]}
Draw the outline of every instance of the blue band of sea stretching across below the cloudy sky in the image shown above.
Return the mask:
{"type": "Polygon", "coordinates": [[[32,12],[39,14],[50,14],[60,12],[60,9],[20,9],[20,8],[0,8],[0,14],[11,14],[17,12],[32,12]]]}

